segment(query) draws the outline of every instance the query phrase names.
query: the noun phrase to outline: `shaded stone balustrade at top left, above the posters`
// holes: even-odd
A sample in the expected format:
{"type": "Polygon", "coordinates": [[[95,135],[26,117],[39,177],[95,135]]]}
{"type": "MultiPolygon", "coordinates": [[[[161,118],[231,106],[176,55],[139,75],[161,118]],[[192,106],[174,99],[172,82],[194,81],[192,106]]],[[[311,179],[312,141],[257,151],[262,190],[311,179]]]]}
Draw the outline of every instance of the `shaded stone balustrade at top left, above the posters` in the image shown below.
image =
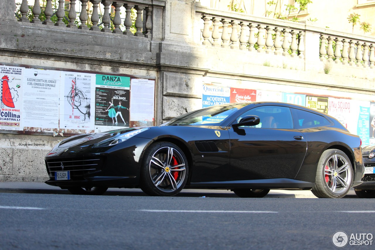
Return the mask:
{"type": "Polygon", "coordinates": [[[64,9],[64,0],[58,0],[57,10],[52,9],[52,0],[46,0],[46,6],[43,9],[45,20],[41,21],[39,16],[42,13],[42,8],[40,7],[40,0],[34,0],[34,5],[32,6],[33,19],[30,21],[27,17],[30,12],[27,0],[23,0],[20,7],[20,17],[18,21],[21,22],[31,22],[35,24],[45,24],[50,26],[60,26],[67,27],[70,29],[81,29],[81,30],[92,30],[101,32],[111,32],[116,34],[123,34],[127,36],[139,36],[139,37],[151,37],[152,28],[152,1],[151,0],[137,0],[126,1],[126,0],[71,0],[69,11],[64,9]],[[81,9],[87,9],[87,3],[92,3],[92,9],[88,11],[81,11],[77,17],[76,5],[81,5],[81,9]],[[110,9],[111,6],[114,8],[114,16],[111,18],[110,9]],[[124,7],[126,16],[124,22],[120,18],[120,8],[124,7]],[[104,13],[99,15],[98,9],[104,9],[104,13]],[[133,25],[131,19],[132,9],[136,12],[135,29],[136,31],[131,32],[130,27],[133,25]],[[68,12],[68,17],[66,17],[66,12],[68,12]],[[139,15],[140,14],[140,15],[139,15]],[[53,16],[56,15],[57,21],[52,21],[53,16]],[[66,22],[63,19],[66,18],[66,22]],[[89,20],[89,22],[87,22],[89,20]],[[68,23],[68,24],[66,24],[68,23]],[[80,23],[80,25],[77,25],[80,23]],[[89,23],[90,27],[87,26],[89,23]],[[123,30],[121,26],[123,25],[123,30]]]}

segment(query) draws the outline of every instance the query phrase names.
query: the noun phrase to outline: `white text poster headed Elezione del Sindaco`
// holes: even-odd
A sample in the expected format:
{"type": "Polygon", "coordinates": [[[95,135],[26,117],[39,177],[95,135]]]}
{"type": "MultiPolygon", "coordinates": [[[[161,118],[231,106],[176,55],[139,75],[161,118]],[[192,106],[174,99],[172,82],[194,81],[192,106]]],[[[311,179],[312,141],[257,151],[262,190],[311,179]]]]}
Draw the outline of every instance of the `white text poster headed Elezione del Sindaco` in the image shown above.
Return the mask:
{"type": "Polygon", "coordinates": [[[23,127],[28,131],[58,128],[60,71],[25,69],[23,127]]]}

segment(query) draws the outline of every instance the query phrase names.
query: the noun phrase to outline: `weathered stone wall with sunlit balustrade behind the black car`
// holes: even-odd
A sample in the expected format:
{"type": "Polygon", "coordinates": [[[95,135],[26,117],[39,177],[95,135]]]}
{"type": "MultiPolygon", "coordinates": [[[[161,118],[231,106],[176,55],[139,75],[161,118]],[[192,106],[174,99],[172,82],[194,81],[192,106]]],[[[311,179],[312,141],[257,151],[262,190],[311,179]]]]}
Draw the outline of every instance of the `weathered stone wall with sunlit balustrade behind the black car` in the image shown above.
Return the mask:
{"type": "MultiPolygon", "coordinates": [[[[361,48],[367,43],[368,51],[372,48],[373,54],[375,41],[371,38],[354,37],[306,23],[217,12],[202,8],[194,0],[119,0],[118,3],[130,7],[139,3],[145,11],[152,11],[149,23],[152,35],[133,36],[19,22],[9,10],[14,0],[1,0],[0,64],[156,78],[156,125],[201,108],[203,84],[316,95],[324,91],[325,95],[342,98],[375,99],[375,69],[371,56],[367,61],[364,58],[368,63],[365,66],[343,64],[340,60],[333,62],[330,59],[335,51],[330,50],[328,44],[329,39],[331,42],[348,39],[353,45],[362,42],[357,51],[363,51],[361,48]],[[216,37],[213,35],[214,18],[220,22],[230,21],[227,47],[212,46],[216,37]],[[249,41],[251,27],[256,32],[264,29],[263,40],[257,39],[255,43],[263,46],[263,51],[248,46],[240,49],[241,34],[246,35],[242,40],[249,41]],[[270,39],[267,42],[267,27],[270,35],[276,28],[288,34],[298,32],[299,39],[291,35],[285,45],[295,50],[295,55],[277,54],[277,43],[270,39]],[[238,32],[237,38],[231,35],[233,32],[238,32]],[[321,47],[322,39],[326,39],[327,48],[321,47]],[[238,46],[232,46],[236,43],[238,46]],[[264,66],[265,62],[269,65],[264,66]],[[332,63],[329,74],[323,71],[327,62],[332,63]]],[[[222,35],[222,29],[219,32],[222,35]]],[[[219,41],[222,42],[221,36],[219,41]]],[[[0,132],[0,152],[3,153],[0,181],[44,181],[43,157],[63,137],[0,132]]]]}

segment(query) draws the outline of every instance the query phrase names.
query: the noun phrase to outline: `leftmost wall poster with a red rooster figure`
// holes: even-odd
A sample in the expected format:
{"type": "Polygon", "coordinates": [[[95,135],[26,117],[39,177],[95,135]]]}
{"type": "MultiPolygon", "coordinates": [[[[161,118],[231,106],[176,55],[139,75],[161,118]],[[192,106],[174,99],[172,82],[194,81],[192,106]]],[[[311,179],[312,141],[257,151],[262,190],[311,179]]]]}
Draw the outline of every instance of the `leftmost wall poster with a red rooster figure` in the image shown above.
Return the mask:
{"type": "Polygon", "coordinates": [[[25,68],[0,66],[0,129],[23,130],[22,91],[25,68]]]}

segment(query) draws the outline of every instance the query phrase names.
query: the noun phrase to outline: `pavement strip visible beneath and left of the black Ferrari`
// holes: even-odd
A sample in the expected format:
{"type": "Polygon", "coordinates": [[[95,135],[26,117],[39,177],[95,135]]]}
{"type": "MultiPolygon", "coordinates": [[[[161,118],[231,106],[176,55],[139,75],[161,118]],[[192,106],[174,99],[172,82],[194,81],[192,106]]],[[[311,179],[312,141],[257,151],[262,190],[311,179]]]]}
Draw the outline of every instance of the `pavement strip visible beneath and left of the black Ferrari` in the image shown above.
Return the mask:
{"type": "MultiPolygon", "coordinates": [[[[43,182],[0,182],[0,193],[70,194],[68,190],[43,182]]],[[[138,188],[109,188],[104,195],[146,196],[138,188]]],[[[237,197],[230,190],[184,189],[178,196],[188,197],[237,197]]],[[[317,198],[310,190],[271,190],[265,198],[317,198]]],[[[357,198],[353,188],[345,198],[357,198]]]]}

